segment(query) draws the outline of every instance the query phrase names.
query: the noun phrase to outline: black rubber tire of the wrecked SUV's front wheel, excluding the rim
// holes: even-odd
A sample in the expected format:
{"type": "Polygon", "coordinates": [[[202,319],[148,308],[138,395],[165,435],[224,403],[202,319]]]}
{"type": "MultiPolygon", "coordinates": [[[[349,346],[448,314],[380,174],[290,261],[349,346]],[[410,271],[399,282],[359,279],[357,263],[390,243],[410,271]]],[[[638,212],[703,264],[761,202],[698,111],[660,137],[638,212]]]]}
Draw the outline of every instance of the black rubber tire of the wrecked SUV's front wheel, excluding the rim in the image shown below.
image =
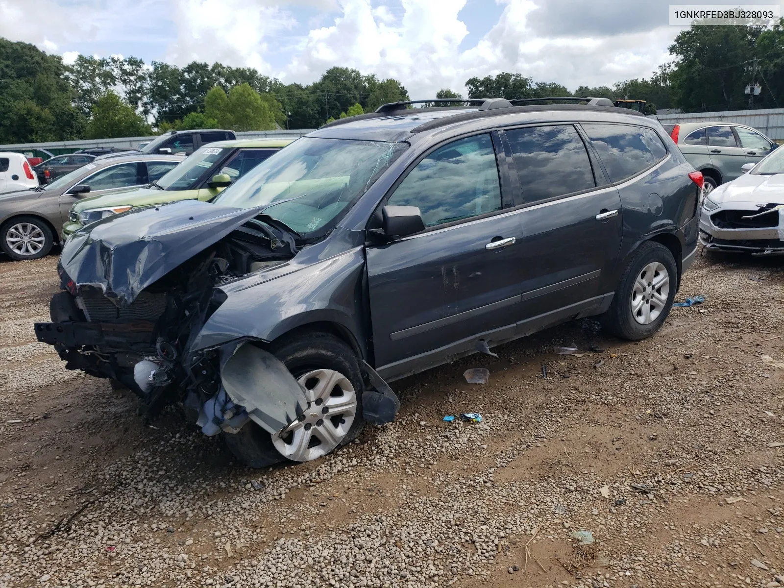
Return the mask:
{"type": "MultiPolygon", "coordinates": [[[[357,415],[348,434],[338,447],[353,441],[362,430],[362,374],[357,355],[338,337],[324,332],[294,332],[283,336],[272,353],[295,378],[318,368],[334,369],[346,376],[357,393],[357,415]]],[[[285,460],[272,443],[272,437],[259,425],[247,423],[237,434],[224,433],[229,451],[249,467],[267,467],[285,460]]]]}

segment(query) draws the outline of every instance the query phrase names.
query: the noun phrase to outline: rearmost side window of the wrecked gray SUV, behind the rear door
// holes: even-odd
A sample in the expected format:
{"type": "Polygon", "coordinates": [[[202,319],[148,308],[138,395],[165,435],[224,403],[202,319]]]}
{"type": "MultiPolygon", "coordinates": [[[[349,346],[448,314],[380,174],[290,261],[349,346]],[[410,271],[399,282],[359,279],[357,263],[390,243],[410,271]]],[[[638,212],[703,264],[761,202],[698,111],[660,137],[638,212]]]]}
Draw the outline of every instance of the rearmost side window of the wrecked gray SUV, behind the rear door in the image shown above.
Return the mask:
{"type": "Polygon", "coordinates": [[[659,135],[652,129],[633,125],[582,125],[613,183],[637,176],[666,158],[659,135]]]}

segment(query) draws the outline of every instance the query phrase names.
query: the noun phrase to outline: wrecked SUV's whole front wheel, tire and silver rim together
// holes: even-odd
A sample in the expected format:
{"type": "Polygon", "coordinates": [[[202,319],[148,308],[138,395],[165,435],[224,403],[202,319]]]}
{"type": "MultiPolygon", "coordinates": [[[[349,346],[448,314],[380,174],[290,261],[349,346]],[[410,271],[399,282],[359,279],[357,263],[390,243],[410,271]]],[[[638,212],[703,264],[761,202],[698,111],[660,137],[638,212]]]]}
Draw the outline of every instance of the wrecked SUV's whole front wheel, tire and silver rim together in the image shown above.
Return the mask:
{"type": "Polygon", "coordinates": [[[304,418],[282,437],[252,421],[237,434],[223,434],[227,448],[246,466],[267,467],[285,459],[310,461],[347,445],[362,429],[362,376],[351,348],[328,333],[292,333],[272,353],[307,388],[304,418]]]}

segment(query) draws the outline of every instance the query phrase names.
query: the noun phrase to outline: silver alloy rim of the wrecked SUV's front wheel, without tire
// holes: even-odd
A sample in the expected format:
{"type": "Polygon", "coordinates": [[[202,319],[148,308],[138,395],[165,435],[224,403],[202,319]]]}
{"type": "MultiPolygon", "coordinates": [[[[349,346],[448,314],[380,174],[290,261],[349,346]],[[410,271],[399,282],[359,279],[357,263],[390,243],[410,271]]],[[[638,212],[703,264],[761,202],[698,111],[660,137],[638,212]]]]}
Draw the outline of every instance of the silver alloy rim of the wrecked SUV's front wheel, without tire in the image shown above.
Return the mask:
{"type": "Polygon", "coordinates": [[[297,381],[305,387],[307,408],[274,447],[287,459],[307,462],[325,456],[345,439],[357,415],[357,394],[350,380],[332,369],[315,369],[297,381]]]}

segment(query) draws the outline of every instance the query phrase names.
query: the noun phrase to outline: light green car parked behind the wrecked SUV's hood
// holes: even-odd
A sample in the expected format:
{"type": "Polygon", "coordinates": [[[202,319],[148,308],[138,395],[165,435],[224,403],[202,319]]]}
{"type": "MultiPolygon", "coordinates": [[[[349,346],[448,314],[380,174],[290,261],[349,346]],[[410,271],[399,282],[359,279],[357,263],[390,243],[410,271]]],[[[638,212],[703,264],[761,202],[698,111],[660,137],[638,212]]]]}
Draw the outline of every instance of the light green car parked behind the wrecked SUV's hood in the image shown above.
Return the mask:
{"type": "Polygon", "coordinates": [[[293,139],[238,139],[209,143],[148,186],[125,188],[95,198],[78,200],[71,206],[68,220],[63,225],[63,241],[89,223],[138,206],[191,198],[211,200],[220,194],[223,188],[292,141],[293,139]]]}

